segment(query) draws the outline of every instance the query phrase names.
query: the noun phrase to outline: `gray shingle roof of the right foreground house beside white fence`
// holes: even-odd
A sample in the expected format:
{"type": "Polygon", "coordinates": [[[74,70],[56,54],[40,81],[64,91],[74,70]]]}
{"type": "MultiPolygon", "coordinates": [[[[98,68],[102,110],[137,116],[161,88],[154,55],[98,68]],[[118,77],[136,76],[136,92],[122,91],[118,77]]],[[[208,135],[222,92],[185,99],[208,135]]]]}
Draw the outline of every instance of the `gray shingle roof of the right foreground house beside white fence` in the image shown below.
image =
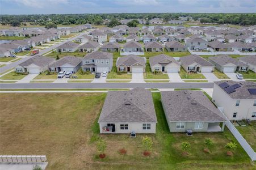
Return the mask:
{"type": "Polygon", "coordinates": [[[221,112],[202,91],[161,92],[167,120],[171,122],[225,121],[221,112]]]}

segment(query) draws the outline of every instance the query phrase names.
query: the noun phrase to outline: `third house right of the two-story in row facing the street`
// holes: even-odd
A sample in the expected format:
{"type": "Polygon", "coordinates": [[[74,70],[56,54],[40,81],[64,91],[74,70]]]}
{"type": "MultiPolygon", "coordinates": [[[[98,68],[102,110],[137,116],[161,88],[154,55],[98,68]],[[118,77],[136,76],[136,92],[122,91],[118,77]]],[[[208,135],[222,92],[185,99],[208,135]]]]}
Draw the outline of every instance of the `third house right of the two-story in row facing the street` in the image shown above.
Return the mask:
{"type": "Polygon", "coordinates": [[[195,54],[181,57],[181,66],[187,72],[211,73],[214,70],[211,62],[195,54]]]}

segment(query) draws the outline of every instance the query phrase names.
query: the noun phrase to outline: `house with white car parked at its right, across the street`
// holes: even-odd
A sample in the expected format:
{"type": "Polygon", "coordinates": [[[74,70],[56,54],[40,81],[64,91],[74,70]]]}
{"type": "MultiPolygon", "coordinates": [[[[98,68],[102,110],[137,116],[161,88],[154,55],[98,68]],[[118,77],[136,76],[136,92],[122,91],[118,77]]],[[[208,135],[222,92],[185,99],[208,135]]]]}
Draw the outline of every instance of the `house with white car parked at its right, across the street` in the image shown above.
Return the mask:
{"type": "Polygon", "coordinates": [[[215,65],[216,69],[224,73],[234,73],[236,71],[248,71],[246,63],[238,61],[228,55],[209,57],[209,62],[215,65]]]}

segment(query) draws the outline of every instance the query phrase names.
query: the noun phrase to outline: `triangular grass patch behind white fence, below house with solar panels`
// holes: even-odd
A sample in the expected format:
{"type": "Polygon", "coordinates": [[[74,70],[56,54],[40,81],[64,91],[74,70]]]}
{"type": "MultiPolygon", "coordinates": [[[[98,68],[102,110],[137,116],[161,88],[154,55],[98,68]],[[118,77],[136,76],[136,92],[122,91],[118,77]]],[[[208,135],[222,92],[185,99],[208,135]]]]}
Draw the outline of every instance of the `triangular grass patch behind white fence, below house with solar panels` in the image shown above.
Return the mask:
{"type": "Polygon", "coordinates": [[[245,138],[245,140],[249,143],[251,148],[253,148],[253,150],[256,151],[256,121],[251,121],[251,125],[236,126],[236,128],[245,138]]]}

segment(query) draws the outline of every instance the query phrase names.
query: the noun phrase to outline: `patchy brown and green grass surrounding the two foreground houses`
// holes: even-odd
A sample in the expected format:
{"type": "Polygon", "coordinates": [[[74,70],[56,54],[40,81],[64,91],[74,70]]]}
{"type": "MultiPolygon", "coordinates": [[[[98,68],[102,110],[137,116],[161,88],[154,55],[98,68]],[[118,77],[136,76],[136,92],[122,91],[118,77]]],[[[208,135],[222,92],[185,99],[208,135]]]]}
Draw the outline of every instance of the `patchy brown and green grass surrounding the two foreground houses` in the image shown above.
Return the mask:
{"type": "Polygon", "coordinates": [[[98,117],[106,94],[0,94],[0,152],[3,155],[47,155],[48,169],[254,169],[238,145],[232,157],[225,145],[234,141],[224,133],[170,133],[160,101],[154,92],[157,133],[151,156],[142,155],[141,139],[128,134],[99,134],[98,117]],[[15,104],[15,107],[13,105],[15,104]],[[96,143],[106,139],[106,158],[99,159],[96,143]],[[211,138],[211,154],[203,152],[204,138],[211,138]],[[191,143],[182,156],[181,143],[191,143]],[[127,150],[120,155],[120,148],[127,150]]]}

